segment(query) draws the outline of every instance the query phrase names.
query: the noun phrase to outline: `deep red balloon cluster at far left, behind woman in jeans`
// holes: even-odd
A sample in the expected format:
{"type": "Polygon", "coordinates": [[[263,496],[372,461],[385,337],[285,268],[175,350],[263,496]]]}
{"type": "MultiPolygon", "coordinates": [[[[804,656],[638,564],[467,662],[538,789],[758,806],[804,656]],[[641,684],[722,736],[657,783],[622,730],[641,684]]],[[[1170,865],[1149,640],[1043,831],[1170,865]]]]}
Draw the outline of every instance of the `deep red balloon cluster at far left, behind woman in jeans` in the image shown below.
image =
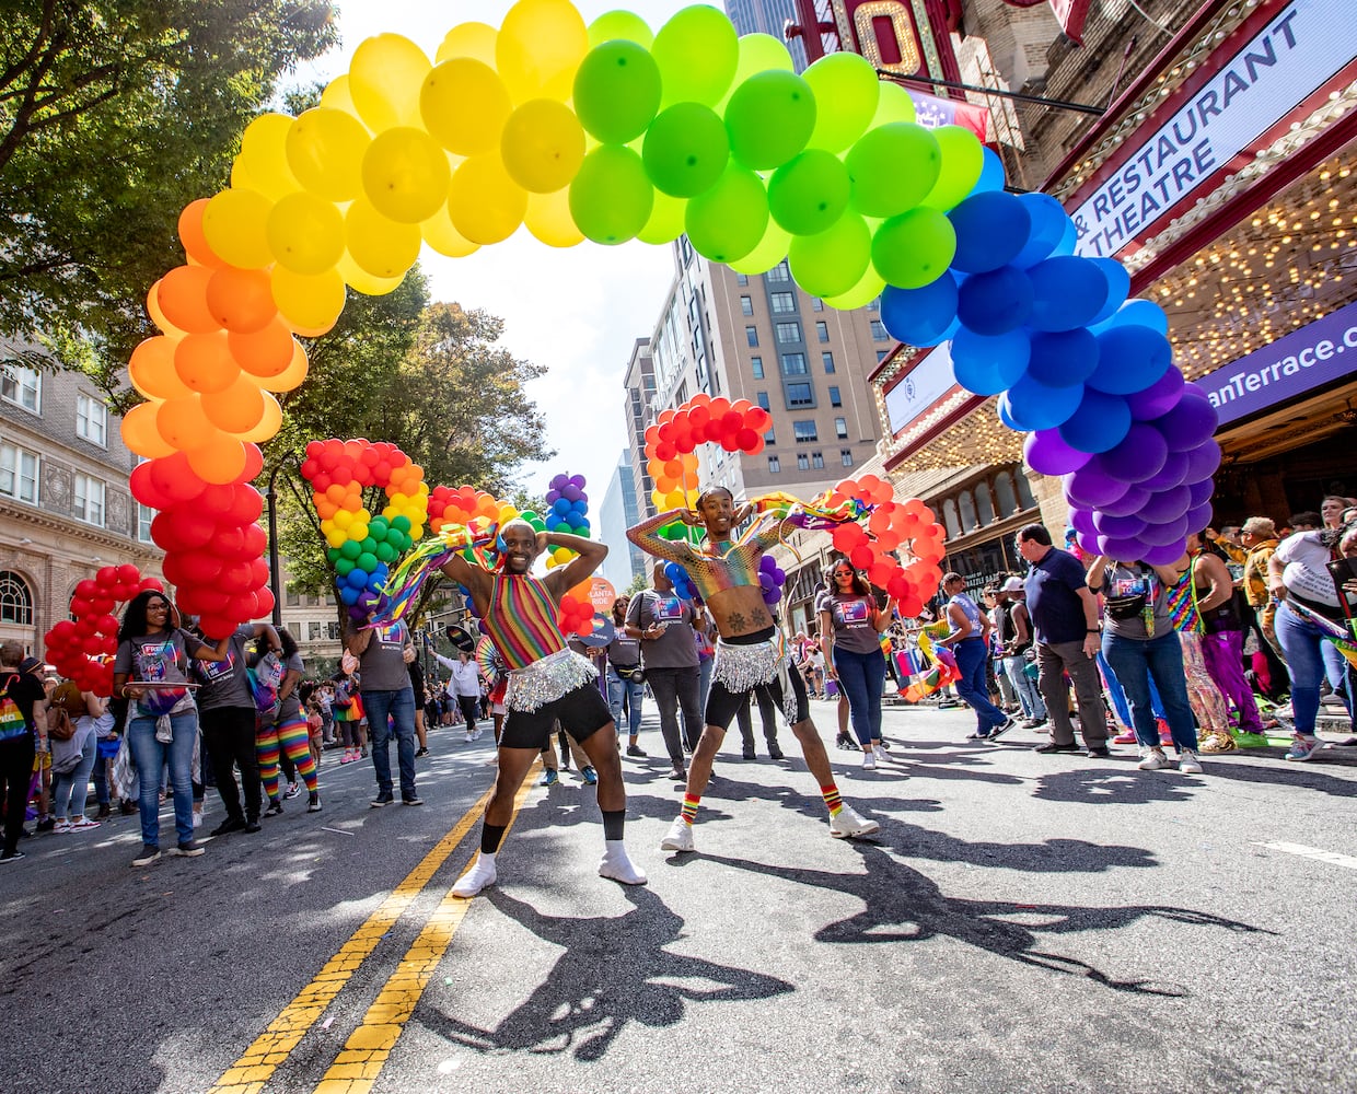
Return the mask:
{"type": "Polygon", "coordinates": [[[80,691],[113,695],[113,656],[118,652],[119,603],[145,589],[164,592],[159,578],[141,577],[132,563],[103,566],[76,585],[71,597],[71,619],[60,620],[42,641],[46,657],[57,672],[73,680],[80,691]]]}

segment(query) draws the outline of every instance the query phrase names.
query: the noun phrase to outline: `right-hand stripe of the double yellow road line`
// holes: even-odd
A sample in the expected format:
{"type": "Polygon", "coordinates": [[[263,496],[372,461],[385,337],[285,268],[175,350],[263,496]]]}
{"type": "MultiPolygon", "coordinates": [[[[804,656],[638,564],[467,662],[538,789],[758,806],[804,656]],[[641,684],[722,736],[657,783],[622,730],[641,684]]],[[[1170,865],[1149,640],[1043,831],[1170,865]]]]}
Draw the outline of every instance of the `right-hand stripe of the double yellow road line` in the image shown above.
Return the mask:
{"type": "MultiPolygon", "coordinates": [[[[536,764],[533,764],[536,771],[536,764]]],[[[518,818],[528,791],[535,780],[529,776],[522,780],[518,793],[514,795],[513,816],[509,817],[509,828],[513,828],[518,818]]],[[[509,828],[505,829],[508,835],[509,828]]],[[[468,861],[470,865],[470,861],[468,861]]],[[[463,867],[463,873],[465,867],[463,867]]],[[[460,877],[460,874],[459,874],[460,877]]],[[[315,1094],[368,1094],[376,1083],[381,1068],[385,1067],[391,1049],[396,1046],[406,1022],[414,1014],[415,1004],[429,985],[438,962],[442,961],[452,937],[467,916],[471,901],[455,897],[449,886],[437,911],[429,916],[425,928],[414,941],[406,956],[400,960],[391,979],[381,985],[381,991],[362,1015],[358,1027],[349,1034],[343,1049],[335,1061],[326,1071],[315,1094]]]]}

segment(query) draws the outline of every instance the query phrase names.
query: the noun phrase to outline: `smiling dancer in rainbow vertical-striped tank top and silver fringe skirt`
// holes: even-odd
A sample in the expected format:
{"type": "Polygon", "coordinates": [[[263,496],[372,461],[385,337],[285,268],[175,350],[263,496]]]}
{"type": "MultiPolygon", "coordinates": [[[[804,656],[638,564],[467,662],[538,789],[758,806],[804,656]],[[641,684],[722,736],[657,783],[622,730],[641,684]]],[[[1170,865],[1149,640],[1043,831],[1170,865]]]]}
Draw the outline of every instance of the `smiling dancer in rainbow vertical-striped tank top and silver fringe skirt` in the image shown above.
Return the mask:
{"type": "Polygon", "coordinates": [[[509,521],[499,537],[505,550],[502,571],[491,573],[461,555],[453,555],[442,566],[448,577],[471,589],[480,628],[490,635],[509,672],[499,772],[480,827],[480,854],[452,886],[452,893],[471,897],[495,881],[495,852],[513,818],[514,794],[558,718],[598,772],[605,847],[598,873],[623,885],[645,885],[645,873],[627,858],[622,843],[627,791],[622,785],[612,715],[596,683],[598,671],[567,649],[556,626],[562,593],[589,577],[608,548],[565,532],[536,532],[521,520],[509,521]],[[544,578],[536,578],[529,573],[532,563],[547,547],[569,547],[579,554],[544,578]]]}

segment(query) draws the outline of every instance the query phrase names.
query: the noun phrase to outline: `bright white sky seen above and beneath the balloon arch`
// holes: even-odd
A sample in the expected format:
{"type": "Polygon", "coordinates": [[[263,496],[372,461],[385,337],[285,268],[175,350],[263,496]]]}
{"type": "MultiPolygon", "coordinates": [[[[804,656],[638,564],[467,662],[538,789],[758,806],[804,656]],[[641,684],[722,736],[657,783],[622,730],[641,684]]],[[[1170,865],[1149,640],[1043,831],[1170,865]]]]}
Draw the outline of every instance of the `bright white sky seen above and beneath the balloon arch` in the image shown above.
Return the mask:
{"type": "MultiPolygon", "coordinates": [[[[586,23],[622,7],[658,29],[687,0],[575,0],[575,5],[586,23]]],[[[301,68],[297,81],[342,75],[358,43],[384,33],[403,34],[433,60],[455,24],[475,20],[498,27],[509,7],[509,0],[339,0],[341,49],[301,68]]],[[[531,394],[556,456],[525,464],[520,482],[543,494],[556,472],[584,475],[590,517],[597,517],[626,445],[622,377],[635,339],[654,328],[673,280],[669,248],[585,242],[559,250],[520,228],[468,258],[425,248],[422,266],[436,300],[498,315],[505,320],[501,345],[547,368],[531,394]]]]}

